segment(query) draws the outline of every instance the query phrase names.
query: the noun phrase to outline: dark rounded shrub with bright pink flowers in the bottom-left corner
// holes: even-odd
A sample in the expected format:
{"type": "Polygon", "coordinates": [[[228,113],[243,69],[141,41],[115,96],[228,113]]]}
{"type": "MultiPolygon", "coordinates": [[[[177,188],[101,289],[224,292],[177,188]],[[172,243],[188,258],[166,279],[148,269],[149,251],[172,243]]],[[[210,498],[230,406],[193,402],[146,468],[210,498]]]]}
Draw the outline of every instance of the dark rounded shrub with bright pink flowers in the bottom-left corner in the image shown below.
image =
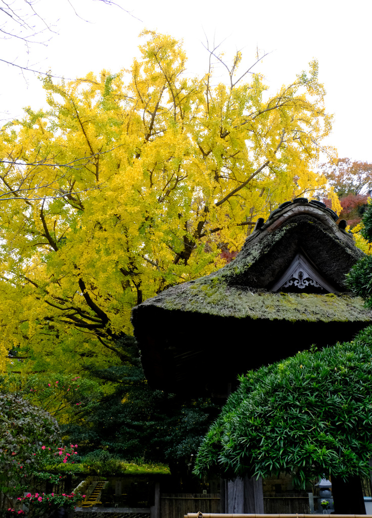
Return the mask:
{"type": "MultiPolygon", "coordinates": [[[[29,484],[48,481],[56,484],[61,474],[47,470],[72,464],[78,445],[57,446],[58,424],[48,412],[33,407],[15,394],[0,394],[0,492],[15,497],[28,491],[29,484]],[[6,484],[6,485],[5,485],[6,484]]],[[[49,515],[59,507],[72,508],[83,496],[71,493],[28,493],[17,501],[31,516],[49,515]]],[[[8,508],[6,515],[22,516],[23,510],[8,508]]]]}

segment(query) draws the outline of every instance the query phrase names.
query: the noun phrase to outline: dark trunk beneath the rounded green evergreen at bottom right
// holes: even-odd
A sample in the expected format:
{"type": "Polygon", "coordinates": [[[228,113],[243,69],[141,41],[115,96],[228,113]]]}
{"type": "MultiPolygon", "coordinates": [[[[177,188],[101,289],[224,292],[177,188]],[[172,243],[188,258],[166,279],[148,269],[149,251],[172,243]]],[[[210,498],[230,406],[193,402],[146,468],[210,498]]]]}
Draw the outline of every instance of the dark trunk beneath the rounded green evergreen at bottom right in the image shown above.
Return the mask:
{"type": "Polygon", "coordinates": [[[360,477],[332,477],[335,514],[366,514],[360,477]]]}

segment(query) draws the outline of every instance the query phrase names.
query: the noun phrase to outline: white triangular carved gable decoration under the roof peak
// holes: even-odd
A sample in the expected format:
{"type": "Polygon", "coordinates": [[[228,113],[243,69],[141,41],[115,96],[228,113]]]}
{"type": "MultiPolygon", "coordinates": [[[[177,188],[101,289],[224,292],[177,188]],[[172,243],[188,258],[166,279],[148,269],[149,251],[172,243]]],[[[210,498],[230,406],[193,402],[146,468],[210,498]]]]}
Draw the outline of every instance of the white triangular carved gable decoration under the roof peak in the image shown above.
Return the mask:
{"type": "Polygon", "coordinates": [[[290,291],[291,286],[293,286],[295,291],[304,290],[304,292],[311,292],[315,288],[317,290],[324,290],[325,293],[334,293],[336,291],[300,252],[296,254],[289,268],[273,285],[272,291],[283,289],[290,291]]]}

